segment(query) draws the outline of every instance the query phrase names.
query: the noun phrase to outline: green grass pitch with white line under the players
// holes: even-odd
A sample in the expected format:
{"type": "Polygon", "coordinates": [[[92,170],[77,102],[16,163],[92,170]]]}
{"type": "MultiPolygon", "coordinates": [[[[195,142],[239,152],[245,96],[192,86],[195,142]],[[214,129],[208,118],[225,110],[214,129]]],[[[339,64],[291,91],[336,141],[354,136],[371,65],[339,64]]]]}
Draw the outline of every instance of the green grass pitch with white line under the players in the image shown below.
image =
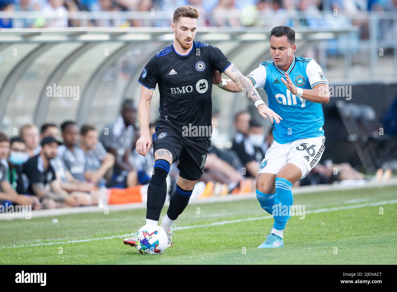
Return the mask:
{"type": "Polygon", "coordinates": [[[256,199],[189,205],[160,255],[123,244],[145,209],[1,220],[0,264],[397,264],[396,186],[299,194],[294,205],[305,218],[289,220],[278,249],[257,248],[273,219],[256,199]]]}

